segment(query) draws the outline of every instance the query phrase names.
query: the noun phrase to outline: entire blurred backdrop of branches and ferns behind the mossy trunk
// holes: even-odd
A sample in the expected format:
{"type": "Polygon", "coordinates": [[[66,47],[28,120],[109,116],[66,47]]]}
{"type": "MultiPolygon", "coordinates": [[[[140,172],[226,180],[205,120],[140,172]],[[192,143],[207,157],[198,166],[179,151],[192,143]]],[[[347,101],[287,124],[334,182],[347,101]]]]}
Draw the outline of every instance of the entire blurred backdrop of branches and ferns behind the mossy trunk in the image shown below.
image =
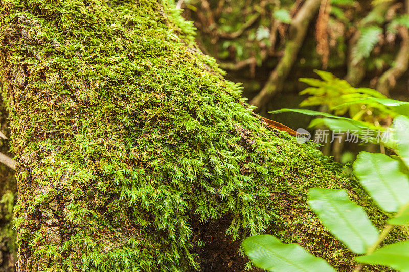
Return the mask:
{"type": "Polygon", "coordinates": [[[200,47],[228,77],[245,83],[257,111],[281,103],[272,99],[280,92],[300,91],[292,81],[309,77],[314,68],[331,70],[353,86],[407,97],[407,82],[399,79],[409,62],[408,1],[186,0],[178,5],[195,22],[200,47]]]}

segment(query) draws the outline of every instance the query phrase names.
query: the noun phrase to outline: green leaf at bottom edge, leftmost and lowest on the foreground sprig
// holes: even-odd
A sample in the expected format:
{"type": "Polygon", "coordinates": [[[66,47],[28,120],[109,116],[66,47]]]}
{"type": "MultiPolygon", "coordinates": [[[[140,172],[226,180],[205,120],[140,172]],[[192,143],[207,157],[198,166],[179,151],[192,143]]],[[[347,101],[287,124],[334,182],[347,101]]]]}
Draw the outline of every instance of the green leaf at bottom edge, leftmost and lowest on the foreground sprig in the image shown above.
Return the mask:
{"type": "Polygon", "coordinates": [[[254,265],[274,272],[334,272],[326,261],[298,244],[285,244],[272,235],[255,235],[243,241],[243,249],[254,265]]]}

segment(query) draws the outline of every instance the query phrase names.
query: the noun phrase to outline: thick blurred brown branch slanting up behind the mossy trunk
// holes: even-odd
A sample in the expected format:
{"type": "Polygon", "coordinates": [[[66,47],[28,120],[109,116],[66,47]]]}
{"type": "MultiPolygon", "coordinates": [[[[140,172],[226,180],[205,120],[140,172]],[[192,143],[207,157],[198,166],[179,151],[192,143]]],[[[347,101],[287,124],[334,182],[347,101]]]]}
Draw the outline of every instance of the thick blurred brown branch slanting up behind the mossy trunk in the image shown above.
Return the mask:
{"type": "Polygon", "coordinates": [[[297,59],[298,52],[307,34],[308,25],[318,11],[320,3],[321,0],[308,0],[293,18],[290,29],[290,34],[294,33],[293,38],[286,42],[284,55],[276,68],[270,73],[270,77],[263,89],[250,101],[250,104],[258,108],[256,110],[260,110],[262,106],[267,104],[269,98],[281,91],[282,85],[297,59]]]}

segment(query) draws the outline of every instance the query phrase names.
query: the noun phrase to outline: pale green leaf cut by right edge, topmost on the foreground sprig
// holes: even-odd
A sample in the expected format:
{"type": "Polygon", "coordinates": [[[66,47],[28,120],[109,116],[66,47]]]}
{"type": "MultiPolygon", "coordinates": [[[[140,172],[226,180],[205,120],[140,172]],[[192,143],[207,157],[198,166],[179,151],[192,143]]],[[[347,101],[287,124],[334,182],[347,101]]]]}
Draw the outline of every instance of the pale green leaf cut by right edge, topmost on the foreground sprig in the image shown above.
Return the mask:
{"type": "Polygon", "coordinates": [[[392,123],[394,130],[396,153],[402,161],[409,167],[409,118],[399,115],[392,123]]]}

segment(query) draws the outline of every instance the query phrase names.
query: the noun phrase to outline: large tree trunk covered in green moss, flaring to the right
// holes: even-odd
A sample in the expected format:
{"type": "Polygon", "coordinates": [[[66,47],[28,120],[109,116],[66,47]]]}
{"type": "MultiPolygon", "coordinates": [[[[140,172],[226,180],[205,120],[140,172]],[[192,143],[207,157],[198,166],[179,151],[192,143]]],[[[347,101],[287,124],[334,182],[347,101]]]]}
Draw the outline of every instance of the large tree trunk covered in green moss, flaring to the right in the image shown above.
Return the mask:
{"type": "Polygon", "coordinates": [[[165,3],[0,4],[18,272],[237,271],[238,241],[262,232],[353,265],[306,191],[365,195],[266,127],[165,3]]]}

